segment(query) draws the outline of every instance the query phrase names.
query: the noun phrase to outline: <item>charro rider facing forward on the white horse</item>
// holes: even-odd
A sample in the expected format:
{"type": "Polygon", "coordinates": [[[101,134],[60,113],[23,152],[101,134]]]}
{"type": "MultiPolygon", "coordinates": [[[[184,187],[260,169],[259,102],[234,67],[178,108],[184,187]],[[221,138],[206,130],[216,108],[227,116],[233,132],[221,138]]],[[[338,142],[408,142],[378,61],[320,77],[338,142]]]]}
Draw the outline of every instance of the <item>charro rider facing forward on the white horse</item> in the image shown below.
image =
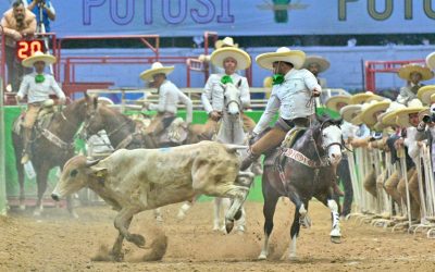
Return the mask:
{"type": "MultiPolygon", "coordinates": [[[[251,59],[247,52],[235,47],[222,47],[211,54],[211,62],[213,65],[223,67],[223,74],[212,74],[204,86],[204,92],[201,95],[202,104],[209,114],[208,123],[216,125],[216,122],[222,118],[222,111],[225,108],[224,103],[224,88],[222,84],[233,83],[238,85],[240,83],[240,100],[243,107],[249,107],[250,95],[248,79],[236,73],[238,70],[246,70],[251,64],[251,59]]],[[[256,123],[243,114],[244,126],[247,131],[252,131],[256,123]]]]}

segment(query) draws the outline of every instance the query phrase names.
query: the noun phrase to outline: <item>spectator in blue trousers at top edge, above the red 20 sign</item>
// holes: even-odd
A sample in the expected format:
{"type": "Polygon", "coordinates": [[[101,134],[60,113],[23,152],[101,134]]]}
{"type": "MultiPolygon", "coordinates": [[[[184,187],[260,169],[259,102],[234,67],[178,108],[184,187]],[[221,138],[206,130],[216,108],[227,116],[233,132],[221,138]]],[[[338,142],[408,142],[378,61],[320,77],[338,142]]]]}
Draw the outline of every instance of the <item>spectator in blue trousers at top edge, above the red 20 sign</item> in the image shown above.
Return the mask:
{"type": "Polygon", "coordinates": [[[36,15],[38,23],[37,33],[51,32],[50,21],[55,20],[54,7],[50,0],[27,0],[27,10],[36,15]],[[42,12],[42,14],[40,13],[42,12]],[[42,24],[41,24],[42,18],[42,24]],[[44,25],[44,28],[41,26],[44,25]]]}

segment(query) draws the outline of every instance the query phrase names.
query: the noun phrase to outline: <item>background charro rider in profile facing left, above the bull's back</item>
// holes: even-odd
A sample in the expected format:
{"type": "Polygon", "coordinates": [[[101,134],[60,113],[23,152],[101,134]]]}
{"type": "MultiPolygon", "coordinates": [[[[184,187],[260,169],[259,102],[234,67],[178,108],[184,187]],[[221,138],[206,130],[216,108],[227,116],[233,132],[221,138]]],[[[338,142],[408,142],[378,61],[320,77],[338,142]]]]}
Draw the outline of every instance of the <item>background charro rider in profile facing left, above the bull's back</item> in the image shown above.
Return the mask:
{"type": "Polygon", "coordinates": [[[151,69],[144,71],[140,78],[145,82],[151,82],[158,89],[159,103],[145,103],[144,107],[149,110],[158,111],[157,116],[147,127],[146,133],[159,136],[176,119],[177,103],[181,101],[186,106],[186,123],[190,124],[192,120],[192,103],[175,84],[167,79],[167,75],[174,71],[174,66],[163,66],[160,62],[154,62],[151,69]]]}

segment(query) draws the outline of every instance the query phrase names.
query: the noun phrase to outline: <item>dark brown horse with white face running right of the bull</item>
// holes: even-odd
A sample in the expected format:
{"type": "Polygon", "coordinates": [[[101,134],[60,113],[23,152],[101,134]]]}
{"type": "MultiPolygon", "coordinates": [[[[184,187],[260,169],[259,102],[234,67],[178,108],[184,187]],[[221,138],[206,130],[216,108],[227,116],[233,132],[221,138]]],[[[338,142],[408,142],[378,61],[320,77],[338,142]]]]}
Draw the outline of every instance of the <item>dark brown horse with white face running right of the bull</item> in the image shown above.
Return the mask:
{"type": "Polygon", "coordinates": [[[341,148],[339,121],[313,120],[293,147],[275,149],[266,154],[262,176],[264,240],[258,259],[268,258],[273,215],[281,196],[288,197],[295,205],[289,259],[297,256],[296,240],[300,225],[310,225],[307,212],[312,197],[331,209],[331,239],[333,243],[340,243],[338,206],[333,200],[332,184],[336,178],[336,166],[341,160],[341,148]]]}

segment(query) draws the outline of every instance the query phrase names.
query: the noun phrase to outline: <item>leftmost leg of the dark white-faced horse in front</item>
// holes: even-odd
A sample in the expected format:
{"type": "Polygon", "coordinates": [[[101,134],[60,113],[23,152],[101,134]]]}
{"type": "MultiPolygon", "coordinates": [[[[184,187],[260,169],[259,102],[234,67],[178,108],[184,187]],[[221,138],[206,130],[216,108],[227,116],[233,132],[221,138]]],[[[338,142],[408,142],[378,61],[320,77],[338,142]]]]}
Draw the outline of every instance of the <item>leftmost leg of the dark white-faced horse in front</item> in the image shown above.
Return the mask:
{"type": "Polygon", "coordinates": [[[265,170],[263,173],[263,183],[262,183],[262,191],[264,197],[263,205],[263,215],[264,215],[264,240],[263,246],[261,248],[259,260],[265,260],[269,256],[269,239],[271,237],[271,233],[273,230],[273,215],[275,214],[276,203],[279,199],[279,195],[276,193],[274,188],[270,185],[266,178],[268,171],[265,170]]]}

